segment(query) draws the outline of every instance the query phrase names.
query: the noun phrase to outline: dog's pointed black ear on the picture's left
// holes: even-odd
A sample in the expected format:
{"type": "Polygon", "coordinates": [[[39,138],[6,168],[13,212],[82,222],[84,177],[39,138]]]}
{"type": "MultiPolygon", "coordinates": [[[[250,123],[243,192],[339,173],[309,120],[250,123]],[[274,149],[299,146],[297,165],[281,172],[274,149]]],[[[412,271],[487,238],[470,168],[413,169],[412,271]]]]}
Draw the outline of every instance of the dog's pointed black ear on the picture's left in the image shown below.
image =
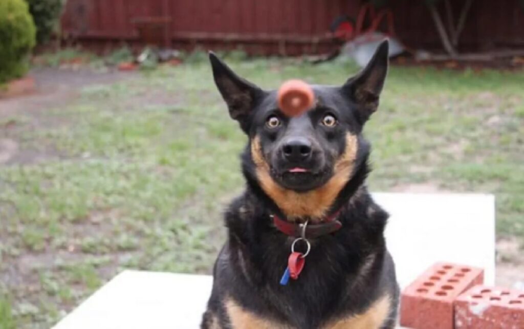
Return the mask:
{"type": "Polygon", "coordinates": [[[212,51],[209,52],[209,60],[215,84],[229,108],[230,116],[247,132],[247,117],[253,110],[257,97],[262,95],[263,91],[255,84],[236,75],[212,51]]]}

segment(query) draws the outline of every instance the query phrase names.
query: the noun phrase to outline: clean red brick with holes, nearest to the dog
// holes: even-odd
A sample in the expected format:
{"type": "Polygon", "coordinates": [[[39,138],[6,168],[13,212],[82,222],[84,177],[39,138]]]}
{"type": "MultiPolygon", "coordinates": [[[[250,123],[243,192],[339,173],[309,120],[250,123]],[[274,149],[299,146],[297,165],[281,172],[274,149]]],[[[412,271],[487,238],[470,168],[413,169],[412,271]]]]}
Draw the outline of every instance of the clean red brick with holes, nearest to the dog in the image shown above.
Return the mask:
{"type": "Polygon", "coordinates": [[[480,268],[436,263],[402,292],[400,325],[415,329],[452,329],[453,301],[483,281],[484,271],[480,268]]]}

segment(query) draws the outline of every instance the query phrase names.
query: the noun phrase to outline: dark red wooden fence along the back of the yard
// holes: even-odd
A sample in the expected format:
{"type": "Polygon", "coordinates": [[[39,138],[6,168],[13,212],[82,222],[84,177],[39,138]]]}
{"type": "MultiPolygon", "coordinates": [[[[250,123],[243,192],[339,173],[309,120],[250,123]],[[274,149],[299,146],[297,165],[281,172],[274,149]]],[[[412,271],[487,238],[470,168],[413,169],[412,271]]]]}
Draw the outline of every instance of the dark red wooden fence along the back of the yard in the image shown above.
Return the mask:
{"type": "MultiPolygon", "coordinates": [[[[460,6],[464,0],[453,0],[460,6]]],[[[519,0],[475,0],[461,45],[469,49],[524,46],[519,0]]],[[[157,21],[165,45],[190,49],[242,47],[255,54],[322,53],[336,47],[329,26],[356,17],[350,0],[68,0],[62,35],[87,47],[140,45],[137,25],[157,21]],[[164,22],[164,23],[162,23],[164,22]]],[[[390,0],[395,29],[412,48],[440,48],[428,9],[420,0],[390,0]]]]}

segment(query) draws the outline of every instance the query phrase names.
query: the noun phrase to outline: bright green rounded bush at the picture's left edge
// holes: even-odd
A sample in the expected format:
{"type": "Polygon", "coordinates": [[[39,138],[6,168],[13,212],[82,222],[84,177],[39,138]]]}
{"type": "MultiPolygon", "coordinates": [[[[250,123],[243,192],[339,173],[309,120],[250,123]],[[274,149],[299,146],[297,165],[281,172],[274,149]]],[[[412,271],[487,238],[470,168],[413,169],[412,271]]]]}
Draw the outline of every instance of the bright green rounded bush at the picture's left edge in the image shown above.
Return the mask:
{"type": "Polygon", "coordinates": [[[23,76],[35,46],[35,24],[24,0],[0,0],[0,83],[23,76]]]}

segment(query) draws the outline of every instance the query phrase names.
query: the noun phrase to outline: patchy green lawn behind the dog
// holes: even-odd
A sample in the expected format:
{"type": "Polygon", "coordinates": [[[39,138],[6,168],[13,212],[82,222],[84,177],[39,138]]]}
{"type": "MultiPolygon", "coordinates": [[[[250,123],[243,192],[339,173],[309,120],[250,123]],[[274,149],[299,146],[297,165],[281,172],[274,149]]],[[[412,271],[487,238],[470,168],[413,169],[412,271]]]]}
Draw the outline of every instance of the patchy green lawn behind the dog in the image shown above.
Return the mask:
{"type": "MultiPolygon", "coordinates": [[[[0,165],[0,329],[47,328],[124,268],[210,272],[246,138],[202,57],[0,113],[0,138],[22,155],[0,165]]],[[[230,62],[263,87],[356,71],[230,62]]],[[[370,189],[495,193],[498,237],[524,242],[523,88],[522,71],[392,68],[365,129],[370,189]]]]}

